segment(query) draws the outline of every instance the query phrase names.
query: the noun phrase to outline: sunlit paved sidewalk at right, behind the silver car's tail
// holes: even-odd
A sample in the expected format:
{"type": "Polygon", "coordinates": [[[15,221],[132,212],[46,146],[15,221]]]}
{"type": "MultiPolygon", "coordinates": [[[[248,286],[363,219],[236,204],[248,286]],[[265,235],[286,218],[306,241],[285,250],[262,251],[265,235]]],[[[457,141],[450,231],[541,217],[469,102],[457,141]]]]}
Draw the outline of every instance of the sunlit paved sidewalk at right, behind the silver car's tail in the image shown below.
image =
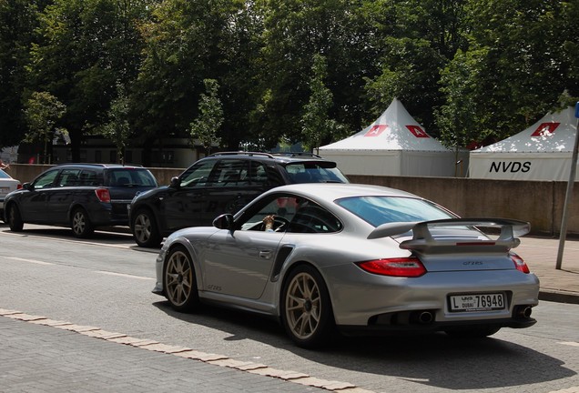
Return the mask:
{"type": "Polygon", "coordinates": [[[541,280],[539,299],[579,304],[579,239],[566,239],[561,269],[556,269],[559,239],[522,237],[514,251],[541,280]]]}

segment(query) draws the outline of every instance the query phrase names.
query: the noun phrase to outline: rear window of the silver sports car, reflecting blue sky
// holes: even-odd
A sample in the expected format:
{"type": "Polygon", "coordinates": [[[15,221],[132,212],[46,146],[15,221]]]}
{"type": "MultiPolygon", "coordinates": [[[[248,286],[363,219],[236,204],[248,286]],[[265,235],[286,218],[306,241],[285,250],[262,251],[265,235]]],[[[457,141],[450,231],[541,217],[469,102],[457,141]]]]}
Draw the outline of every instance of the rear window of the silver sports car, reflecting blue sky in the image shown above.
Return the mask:
{"type": "Polygon", "coordinates": [[[374,227],[392,222],[455,218],[432,202],[404,196],[354,196],[338,199],[336,204],[374,227]]]}

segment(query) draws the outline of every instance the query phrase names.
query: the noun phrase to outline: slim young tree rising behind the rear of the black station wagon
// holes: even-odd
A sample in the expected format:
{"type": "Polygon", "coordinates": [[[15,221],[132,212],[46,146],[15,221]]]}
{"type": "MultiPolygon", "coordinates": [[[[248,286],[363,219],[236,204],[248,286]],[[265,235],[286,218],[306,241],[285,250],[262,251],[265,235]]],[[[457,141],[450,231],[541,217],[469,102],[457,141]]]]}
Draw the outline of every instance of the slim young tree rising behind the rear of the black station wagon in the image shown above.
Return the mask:
{"type": "Polygon", "coordinates": [[[113,141],[117,147],[117,157],[121,164],[125,164],[125,147],[131,136],[131,127],[128,122],[128,98],[125,87],[117,84],[117,98],[115,98],[108,110],[108,122],[102,126],[100,133],[113,141]]]}

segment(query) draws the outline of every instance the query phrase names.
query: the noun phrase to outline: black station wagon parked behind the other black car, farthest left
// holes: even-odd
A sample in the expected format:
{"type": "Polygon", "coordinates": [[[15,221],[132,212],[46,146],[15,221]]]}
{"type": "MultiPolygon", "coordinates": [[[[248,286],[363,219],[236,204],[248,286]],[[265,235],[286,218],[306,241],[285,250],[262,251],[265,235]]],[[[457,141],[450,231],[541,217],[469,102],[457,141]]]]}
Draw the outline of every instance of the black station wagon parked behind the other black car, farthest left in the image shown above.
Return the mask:
{"type": "Polygon", "coordinates": [[[89,237],[95,227],[128,226],[133,197],[157,186],[141,166],[54,166],[6,196],[5,222],[15,232],[31,223],[71,227],[76,237],[89,237]]]}

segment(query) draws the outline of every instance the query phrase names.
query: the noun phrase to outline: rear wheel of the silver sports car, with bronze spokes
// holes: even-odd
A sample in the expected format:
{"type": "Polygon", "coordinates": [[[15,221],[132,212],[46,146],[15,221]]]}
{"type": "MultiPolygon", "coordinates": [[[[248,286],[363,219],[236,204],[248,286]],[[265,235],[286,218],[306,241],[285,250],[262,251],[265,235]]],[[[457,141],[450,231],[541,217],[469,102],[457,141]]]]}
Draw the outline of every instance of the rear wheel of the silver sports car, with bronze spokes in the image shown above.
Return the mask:
{"type": "Polygon", "coordinates": [[[318,348],[334,336],[328,287],[318,270],[300,265],[290,271],[281,290],[281,322],[301,348],[318,348]]]}

